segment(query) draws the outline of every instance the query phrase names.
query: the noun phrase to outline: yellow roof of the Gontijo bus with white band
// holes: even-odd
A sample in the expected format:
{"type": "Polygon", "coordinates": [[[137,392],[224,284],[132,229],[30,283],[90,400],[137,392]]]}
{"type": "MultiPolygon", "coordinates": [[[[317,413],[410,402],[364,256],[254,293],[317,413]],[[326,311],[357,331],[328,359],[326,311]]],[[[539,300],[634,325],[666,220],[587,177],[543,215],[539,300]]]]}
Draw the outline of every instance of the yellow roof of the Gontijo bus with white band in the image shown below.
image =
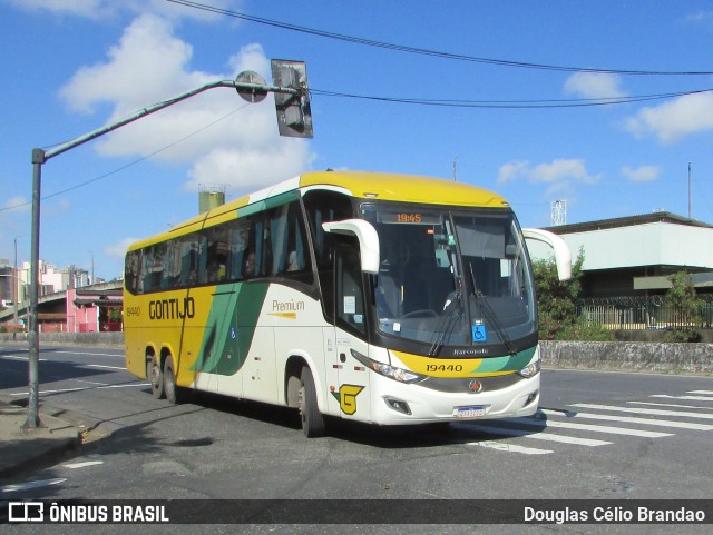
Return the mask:
{"type": "Polygon", "coordinates": [[[233,219],[236,210],[240,212],[241,208],[287,191],[321,188],[343,191],[356,198],[374,200],[488,208],[509,207],[509,204],[501,196],[490,190],[443,178],[373,171],[313,171],[234,199],[211,211],[188,219],[166,232],[140,240],[131,245],[130,249],[170,238],[176,234],[196,230],[208,224],[208,221],[209,225],[213,225],[233,219]]]}

